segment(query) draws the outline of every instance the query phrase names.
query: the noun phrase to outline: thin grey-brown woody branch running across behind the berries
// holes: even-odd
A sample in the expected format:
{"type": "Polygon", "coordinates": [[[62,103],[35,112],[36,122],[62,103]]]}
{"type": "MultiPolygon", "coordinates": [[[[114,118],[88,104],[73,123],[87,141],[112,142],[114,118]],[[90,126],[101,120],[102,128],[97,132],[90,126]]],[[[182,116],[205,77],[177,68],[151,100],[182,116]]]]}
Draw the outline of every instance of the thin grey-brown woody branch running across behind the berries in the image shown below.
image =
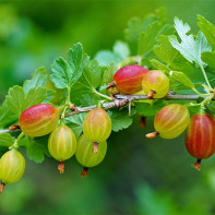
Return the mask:
{"type": "MultiPolygon", "coordinates": [[[[199,95],[167,95],[163,98],[158,99],[165,99],[165,100],[196,100],[200,96],[199,95]]],[[[120,108],[129,104],[129,107],[131,108],[131,101],[133,100],[146,100],[146,95],[116,95],[116,98],[114,101],[105,103],[103,104],[103,108],[105,110],[108,110],[110,108],[120,108]]],[[[215,98],[213,98],[215,100],[215,98]]],[[[70,117],[73,115],[79,115],[82,112],[88,112],[96,108],[96,105],[88,106],[88,107],[75,107],[74,110],[71,110],[70,112],[65,114],[65,117],[70,117]]],[[[20,129],[16,130],[1,130],[0,133],[10,133],[13,131],[20,131],[20,129]]]]}

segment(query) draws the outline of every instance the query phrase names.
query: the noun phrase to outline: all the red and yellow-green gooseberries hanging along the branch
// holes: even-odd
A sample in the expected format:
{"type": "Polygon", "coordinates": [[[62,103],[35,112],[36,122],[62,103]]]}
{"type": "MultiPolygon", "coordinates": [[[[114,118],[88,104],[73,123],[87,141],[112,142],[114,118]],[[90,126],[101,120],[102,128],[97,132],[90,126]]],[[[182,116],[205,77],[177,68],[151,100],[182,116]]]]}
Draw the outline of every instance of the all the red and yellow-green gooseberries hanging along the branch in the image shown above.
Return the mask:
{"type": "MultiPolygon", "coordinates": [[[[169,92],[169,77],[158,70],[148,71],[141,65],[127,65],[119,69],[114,82],[107,85],[112,100],[116,94],[136,94],[140,91],[147,99],[163,98],[169,92]]],[[[39,104],[25,109],[20,116],[19,127],[22,135],[44,136],[50,133],[48,151],[58,160],[58,170],[64,172],[64,160],[75,155],[76,160],[83,166],[82,177],[87,175],[87,169],[103,162],[107,152],[107,139],[111,133],[111,119],[103,109],[103,104],[91,110],[83,121],[83,134],[76,140],[74,132],[65,124],[64,118],[68,109],[75,110],[75,106],[65,104],[63,107],[53,107],[39,104]]],[[[146,134],[153,139],[159,135],[163,139],[176,139],[187,128],[186,148],[198,159],[193,165],[200,170],[201,159],[208,158],[215,152],[215,121],[212,116],[200,111],[190,120],[186,105],[170,104],[162,108],[154,119],[155,131],[146,134]]],[[[0,159],[0,192],[5,184],[17,181],[25,170],[25,158],[19,152],[19,143],[10,147],[0,159]]]]}

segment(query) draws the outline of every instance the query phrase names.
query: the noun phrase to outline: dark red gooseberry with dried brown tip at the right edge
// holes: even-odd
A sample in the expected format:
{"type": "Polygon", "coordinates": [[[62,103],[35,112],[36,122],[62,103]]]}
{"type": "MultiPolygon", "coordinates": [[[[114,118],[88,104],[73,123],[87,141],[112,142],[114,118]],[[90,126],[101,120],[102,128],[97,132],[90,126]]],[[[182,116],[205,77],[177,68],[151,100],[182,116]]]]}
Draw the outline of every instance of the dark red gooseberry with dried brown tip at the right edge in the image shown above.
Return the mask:
{"type": "Polygon", "coordinates": [[[193,115],[186,132],[186,148],[198,159],[193,167],[201,168],[201,159],[211,157],[215,152],[215,121],[203,110],[193,115]]]}

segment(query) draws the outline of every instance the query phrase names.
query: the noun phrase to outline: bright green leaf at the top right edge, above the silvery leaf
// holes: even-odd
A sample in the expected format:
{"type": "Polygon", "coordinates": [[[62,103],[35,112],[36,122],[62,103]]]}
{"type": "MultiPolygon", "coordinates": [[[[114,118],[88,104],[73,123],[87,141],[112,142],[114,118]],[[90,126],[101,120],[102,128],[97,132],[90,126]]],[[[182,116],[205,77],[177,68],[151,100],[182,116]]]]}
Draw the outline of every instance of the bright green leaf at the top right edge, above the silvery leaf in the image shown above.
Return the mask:
{"type": "Polygon", "coordinates": [[[203,32],[207,41],[212,45],[213,49],[215,49],[215,26],[201,15],[198,15],[198,20],[200,21],[198,26],[203,32]]]}

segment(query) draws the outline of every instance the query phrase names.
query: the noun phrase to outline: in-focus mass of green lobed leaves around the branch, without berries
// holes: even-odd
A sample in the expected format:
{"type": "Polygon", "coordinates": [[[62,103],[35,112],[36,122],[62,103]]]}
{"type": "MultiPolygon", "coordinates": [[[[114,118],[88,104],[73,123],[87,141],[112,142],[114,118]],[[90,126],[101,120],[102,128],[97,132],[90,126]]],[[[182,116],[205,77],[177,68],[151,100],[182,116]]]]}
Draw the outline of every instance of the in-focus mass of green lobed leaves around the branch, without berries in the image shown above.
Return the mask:
{"type": "MultiPolygon", "coordinates": [[[[198,35],[193,35],[190,26],[178,17],[175,19],[174,26],[169,24],[164,9],[158,9],[155,14],[150,14],[144,20],[132,19],[124,31],[128,43],[117,40],[112,50],[100,50],[92,60],[84,52],[81,43],[74,44],[68,52],[67,60],[59,57],[53,61],[51,73],[41,67],[33,73],[31,80],[24,82],[23,87],[15,85],[9,89],[5,101],[0,107],[0,128],[4,129],[17,123],[23,110],[37,104],[51,103],[53,96],[61,98],[59,105],[62,105],[62,109],[65,105],[72,104],[82,108],[108,103],[112,98],[106,86],[114,81],[117,70],[126,64],[139,63],[150,70],[158,69],[170,74],[170,91],[193,94],[198,92],[195,89],[198,87],[210,93],[210,87],[203,85],[202,80],[195,84],[199,80],[191,75],[192,71],[199,72],[199,68],[208,65],[206,71],[211,73],[215,68],[215,53],[212,51],[215,38],[214,26],[203,16],[199,15],[198,19],[201,29],[198,35]],[[49,87],[50,82],[58,89],[49,87]]],[[[163,99],[133,101],[131,116],[128,106],[108,110],[112,131],[128,129],[133,122],[132,117],[136,114],[154,117],[169,103],[172,101],[163,99]]],[[[205,101],[205,107],[207,111],[215,115],[214,101],[205,101]]],[[[196,111],[198,108],[198,105],[191,106],[190,110],[196,111]]],[[[85,112],[64,119],[76,139],[82,134],[85,115],[85,112]]],[[[4,150],[11,146],[14,140],[10,134],[0,134],[0,145],[4,150]]],[[[48,135],[36,139],[26,136],[19,144],[21,147],[26,147],[26,155],[31,160],[40,164],[46,156],[49,156],[47,140],[48,135]]]]}

